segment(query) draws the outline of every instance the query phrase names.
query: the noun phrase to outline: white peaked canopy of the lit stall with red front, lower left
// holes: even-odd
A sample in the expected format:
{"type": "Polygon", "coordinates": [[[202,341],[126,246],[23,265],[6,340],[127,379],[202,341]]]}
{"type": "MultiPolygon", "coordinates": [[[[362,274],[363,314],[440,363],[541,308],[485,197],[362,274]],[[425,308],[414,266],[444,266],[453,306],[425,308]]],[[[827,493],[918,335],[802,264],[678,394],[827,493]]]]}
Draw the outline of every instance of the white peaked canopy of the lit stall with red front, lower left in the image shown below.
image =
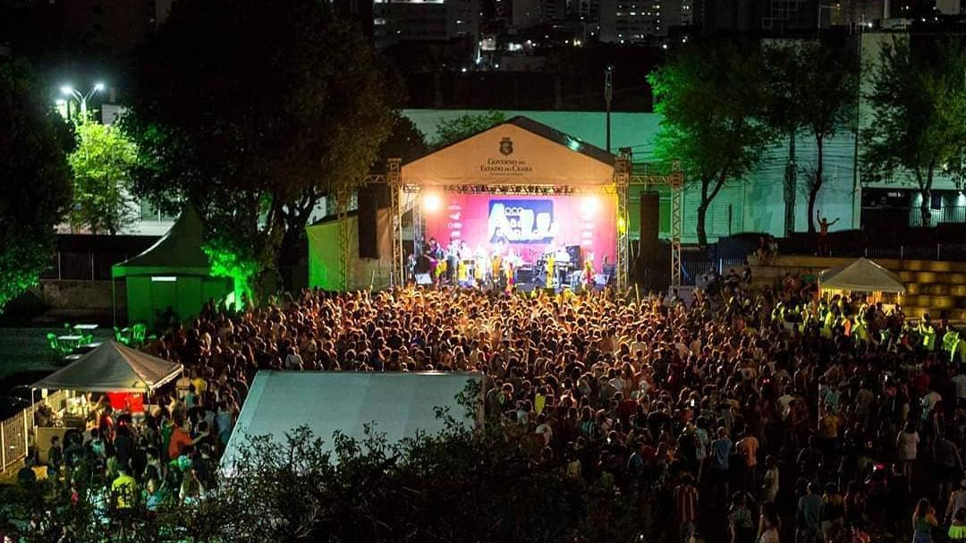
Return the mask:
{"type": "Polygon", "coordinates": [[[181,364],[107,341],[33,387],[85,392],[150,392],[177,378],[182,368],[181,364]]]}

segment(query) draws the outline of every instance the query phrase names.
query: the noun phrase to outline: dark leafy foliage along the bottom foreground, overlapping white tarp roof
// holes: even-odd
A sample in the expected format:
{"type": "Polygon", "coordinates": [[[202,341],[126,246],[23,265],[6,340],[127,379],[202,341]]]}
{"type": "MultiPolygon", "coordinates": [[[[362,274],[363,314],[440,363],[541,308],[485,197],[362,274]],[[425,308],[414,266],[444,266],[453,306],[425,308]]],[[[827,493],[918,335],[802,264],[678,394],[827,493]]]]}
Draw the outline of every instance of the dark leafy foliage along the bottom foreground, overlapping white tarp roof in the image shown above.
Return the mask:
{"type": "Polygon", "coordinates": [[[71,504],[64,483],[50,480],[9,488],[0,529],[27,541],[70,531],[85,541],[185,543],[630,541],[639,532],[639,495],[566,475],[562,459],[538,458],[518,423],[474,428],[440,416],[440,434],[401,443],[372,426],[361,439],[336,433],[331,446],[304,427],[281,443],[252,438],[206,499],[171,497],[155,514],[143,502],[126,515],[71,504]],[[128,539],[118,538],[122,526],[128,539]]]}

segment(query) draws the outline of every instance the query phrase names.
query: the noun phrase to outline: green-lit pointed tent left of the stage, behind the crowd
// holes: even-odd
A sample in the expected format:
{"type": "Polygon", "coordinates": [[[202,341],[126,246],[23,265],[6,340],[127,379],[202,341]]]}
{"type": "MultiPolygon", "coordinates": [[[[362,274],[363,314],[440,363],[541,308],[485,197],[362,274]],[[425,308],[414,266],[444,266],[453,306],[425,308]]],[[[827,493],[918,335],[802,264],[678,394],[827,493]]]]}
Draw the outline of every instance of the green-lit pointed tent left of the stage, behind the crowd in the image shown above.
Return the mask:
{"type": "Polygon", "coordinates": [[[148,250],[114,265],[113,279],[126,279],[128,324],[144,323],[157,329],[162,316],[173,311],[185,322],[210,300],[223,300],[232,292],[232,279],[215,277],[202,249],[204,225],[198,212],[187,206],[163,238],[148,250]]]}

